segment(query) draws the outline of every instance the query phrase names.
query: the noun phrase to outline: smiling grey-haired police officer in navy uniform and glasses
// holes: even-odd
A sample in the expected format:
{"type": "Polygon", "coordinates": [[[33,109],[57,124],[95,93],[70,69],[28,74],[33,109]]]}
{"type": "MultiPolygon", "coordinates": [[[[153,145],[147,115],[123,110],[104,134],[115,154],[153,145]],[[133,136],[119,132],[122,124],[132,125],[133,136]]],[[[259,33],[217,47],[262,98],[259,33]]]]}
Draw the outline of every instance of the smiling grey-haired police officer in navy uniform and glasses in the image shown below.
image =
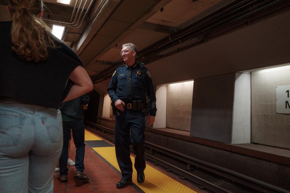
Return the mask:
{"type": "Polygon", "coordinates": [[[127,43],[120,52],[126,64],[117,68],[108,87],[108,94],[117,108],[115,121],[115,150],[122,179],[117,188],[124,188],[132,184],[132,162],[130,159],[130,142],[136,154],[134,167],[137,171],[137,182],[145,180],[144,169],[144,130],[146,93],[149,98],[150,115],[147,123],[152,125],[156,115],[156,97],[149,71],[135,63],[136,46],[127,43]],[[131,137],[130,137],[131,129],[131,137]]]}

